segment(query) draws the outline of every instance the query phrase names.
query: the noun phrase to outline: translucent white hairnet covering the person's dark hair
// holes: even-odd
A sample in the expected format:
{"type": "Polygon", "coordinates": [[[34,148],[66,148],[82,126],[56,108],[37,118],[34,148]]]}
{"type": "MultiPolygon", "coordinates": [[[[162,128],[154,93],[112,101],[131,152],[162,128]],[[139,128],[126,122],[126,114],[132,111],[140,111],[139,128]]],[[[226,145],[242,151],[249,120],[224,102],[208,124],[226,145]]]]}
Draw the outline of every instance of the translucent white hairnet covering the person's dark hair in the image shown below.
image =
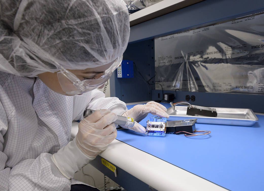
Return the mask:
{"type": "Polygon", "coordinates": [[[122,0],[0,0],[0,70],[33,77],[121,56],[129,39],[122,0]],[[56,63],[58,64],[56,64],[56,63]]]}

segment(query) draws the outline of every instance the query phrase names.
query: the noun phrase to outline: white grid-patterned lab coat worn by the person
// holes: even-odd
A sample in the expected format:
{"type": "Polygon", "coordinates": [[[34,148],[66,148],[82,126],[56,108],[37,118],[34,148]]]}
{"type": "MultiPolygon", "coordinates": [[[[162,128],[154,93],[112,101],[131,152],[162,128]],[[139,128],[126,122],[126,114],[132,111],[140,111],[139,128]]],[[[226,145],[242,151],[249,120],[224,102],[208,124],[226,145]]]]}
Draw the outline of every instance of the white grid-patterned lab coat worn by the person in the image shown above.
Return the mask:
{"type": "Polygon", "coordinates": [[[127,108],[116,97],[98,90],[64,96],[40,79],[0,72],[0,190],[70,190],[51,161],[52,154],[67,145],[73,120],[84,109],[127,108]]]}

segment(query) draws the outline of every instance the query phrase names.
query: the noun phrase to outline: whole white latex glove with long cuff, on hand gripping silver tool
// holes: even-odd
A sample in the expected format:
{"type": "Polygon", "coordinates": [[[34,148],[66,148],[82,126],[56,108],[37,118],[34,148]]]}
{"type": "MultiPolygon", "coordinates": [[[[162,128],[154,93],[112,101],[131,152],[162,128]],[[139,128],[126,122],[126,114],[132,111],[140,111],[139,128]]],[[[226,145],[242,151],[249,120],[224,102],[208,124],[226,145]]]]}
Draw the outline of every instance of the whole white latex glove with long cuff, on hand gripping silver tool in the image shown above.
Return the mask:
{"type": "Polygon", "coordinates": [[[79,123],[79,130],[73,141],[53,154],[51,160],[68,179],[105,150],[117,135],[117,115],[108,109],[101,109],[79,123]]]}

